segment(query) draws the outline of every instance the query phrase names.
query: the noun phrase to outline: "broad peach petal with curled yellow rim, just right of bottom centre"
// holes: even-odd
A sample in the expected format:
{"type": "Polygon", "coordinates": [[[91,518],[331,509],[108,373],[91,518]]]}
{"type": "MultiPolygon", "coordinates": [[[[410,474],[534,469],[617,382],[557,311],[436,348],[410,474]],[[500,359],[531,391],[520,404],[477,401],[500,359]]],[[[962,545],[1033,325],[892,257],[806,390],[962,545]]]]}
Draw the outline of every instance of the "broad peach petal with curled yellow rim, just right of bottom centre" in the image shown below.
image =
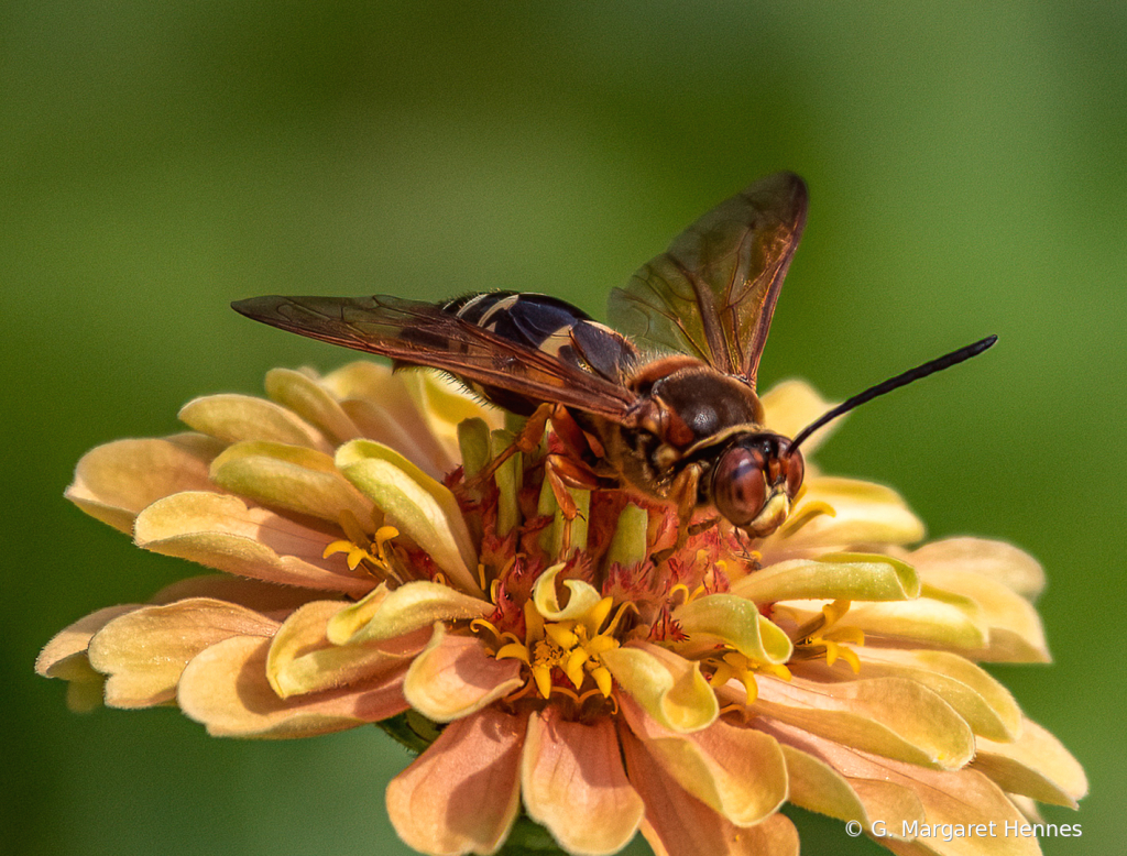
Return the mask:
{"type": "Polygon", "coordinates": [[[662,728],[630,697],[622,696],[620,705],[665,775],[737,827],[758,823],[786,801],[787,766],[773,737],[724,719],[677,734],[662,728]]]}

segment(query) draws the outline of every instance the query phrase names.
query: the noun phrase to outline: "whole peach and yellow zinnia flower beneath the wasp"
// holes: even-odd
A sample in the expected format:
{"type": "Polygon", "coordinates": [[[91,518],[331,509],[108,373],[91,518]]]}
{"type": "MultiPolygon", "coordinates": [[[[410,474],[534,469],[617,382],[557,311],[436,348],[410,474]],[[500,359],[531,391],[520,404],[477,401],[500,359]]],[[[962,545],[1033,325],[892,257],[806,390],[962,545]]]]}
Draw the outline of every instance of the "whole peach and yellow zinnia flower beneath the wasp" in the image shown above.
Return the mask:
{"type": "MultiPolygon", "coordinates": [[[[702,516],[678,544],[672,509],[621,490],[574,491],[568,524],[551,434],[473,479],[515,426],[438,375],[355,363],[266,390],[79,463],[85,511],[230,576],[56,635],[37,669],[72,707],[176,704],[247,738],[380,723],[420,752],[387,804],[427,854],[494,853],[522,806],[569,853],[640,830],[658,854],[796,854],[786,801],[897,854],[1031,854],[929,830],[1086,792],[975,665],[1048,660],[1042,572],[1012,546],[911,550],[923,525],[894,491],[813,466],[755,542],[702,516]]],[[[787,436],[826,409],[797,382],[763,405],[787,436]]]]}

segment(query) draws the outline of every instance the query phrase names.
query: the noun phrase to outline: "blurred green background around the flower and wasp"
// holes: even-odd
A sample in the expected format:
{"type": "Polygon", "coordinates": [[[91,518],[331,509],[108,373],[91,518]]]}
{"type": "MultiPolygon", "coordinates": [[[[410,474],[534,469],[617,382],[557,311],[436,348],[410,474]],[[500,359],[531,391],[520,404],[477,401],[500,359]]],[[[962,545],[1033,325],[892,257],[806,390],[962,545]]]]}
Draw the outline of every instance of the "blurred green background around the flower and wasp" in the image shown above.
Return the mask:
{"type": "MultiPolygon", "coordinates": [[[[601,314],[782,168],[811,207],[766,384],[842,398],[1001,337],[819,460],[933,536],[1041,559],[1056,662],[993,671],[1091,778],[1047,811],[1083,837],[1045,853],[1121,847],[1122,3],[8,0],[0,70],[5,854],[403,851],[382,795],[405,757],[374,729],[213,740],[175,711],[72,715],[32,674],[56,630],[192,571],[63,500],[85,451],[350,358],[232,298],[508,287],[601,314]]],[[[807,854],[884,851],[792,817],[807,854]]]]}

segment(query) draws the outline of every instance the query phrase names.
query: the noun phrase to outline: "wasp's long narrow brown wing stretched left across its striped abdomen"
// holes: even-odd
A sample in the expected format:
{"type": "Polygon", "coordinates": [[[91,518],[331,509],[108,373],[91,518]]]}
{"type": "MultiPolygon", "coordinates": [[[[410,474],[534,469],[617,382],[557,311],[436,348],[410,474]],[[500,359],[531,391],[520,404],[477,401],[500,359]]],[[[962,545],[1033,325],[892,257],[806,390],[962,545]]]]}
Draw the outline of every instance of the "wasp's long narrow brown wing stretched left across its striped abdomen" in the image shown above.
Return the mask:
{"type": "Polygon", "coordinates": [[[270,295],[231,306],[282,330],[399,363],[441,368],[532,401],[556,402],[615,421],[636,400],[620,384],[463,321],[441,305],[384,295],[270,295]]]}

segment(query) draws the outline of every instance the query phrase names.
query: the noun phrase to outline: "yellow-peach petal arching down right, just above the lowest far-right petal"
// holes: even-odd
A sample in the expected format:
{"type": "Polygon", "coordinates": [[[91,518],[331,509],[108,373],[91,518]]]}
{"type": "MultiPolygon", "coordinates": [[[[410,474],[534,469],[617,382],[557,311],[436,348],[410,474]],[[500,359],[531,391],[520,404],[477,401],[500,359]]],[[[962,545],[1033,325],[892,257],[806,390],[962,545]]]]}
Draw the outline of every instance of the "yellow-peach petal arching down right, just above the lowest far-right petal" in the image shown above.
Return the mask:
{"type": "Polygon", "coordinates": [[[1011,740],[1021,729],[1021,708],[1010,692],[965,657],[888,648],[860,648],[857,654],[867,678],[902,677],[922,684],[951,705],[976,734],[1011,740]]]}

